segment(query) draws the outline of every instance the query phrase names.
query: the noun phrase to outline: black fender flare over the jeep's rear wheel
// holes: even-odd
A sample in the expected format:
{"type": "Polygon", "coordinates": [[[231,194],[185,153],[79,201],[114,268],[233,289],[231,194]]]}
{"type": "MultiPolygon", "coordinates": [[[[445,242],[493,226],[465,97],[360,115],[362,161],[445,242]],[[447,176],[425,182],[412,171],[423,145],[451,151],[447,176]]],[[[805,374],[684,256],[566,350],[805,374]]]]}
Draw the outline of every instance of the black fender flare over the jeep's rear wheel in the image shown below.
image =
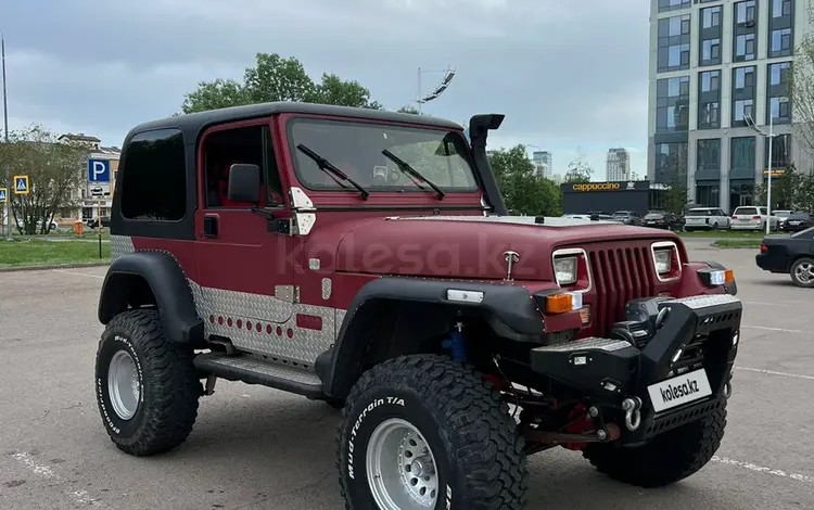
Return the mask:
{"type": "MultiPolygon", "coordinates": [[[[136,252],[116,258],[107,269],[99,297],[99,321],[103,324],[127,310],[127,288],[122,277],[138,277],[150,286],[166,339],[174,343],[204,340],[204,321],[198,316],[187,277],[166,252],[136,252]]],[[[129,280],[129,279],[126,279],[129,280]]]]}

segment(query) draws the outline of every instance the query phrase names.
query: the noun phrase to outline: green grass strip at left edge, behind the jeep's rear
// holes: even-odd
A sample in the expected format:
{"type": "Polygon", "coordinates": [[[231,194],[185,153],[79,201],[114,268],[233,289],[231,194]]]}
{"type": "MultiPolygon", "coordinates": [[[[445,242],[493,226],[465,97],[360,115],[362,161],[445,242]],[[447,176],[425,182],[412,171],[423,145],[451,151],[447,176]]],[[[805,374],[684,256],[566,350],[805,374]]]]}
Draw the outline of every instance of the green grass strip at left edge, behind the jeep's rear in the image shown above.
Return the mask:
{"type": "Polygon", "coordinates": [[[0,241],[0,267],[107,262],[110,257],[109,242],[102,243],[100,260],[99,244],[87,241],[0,241]]]}

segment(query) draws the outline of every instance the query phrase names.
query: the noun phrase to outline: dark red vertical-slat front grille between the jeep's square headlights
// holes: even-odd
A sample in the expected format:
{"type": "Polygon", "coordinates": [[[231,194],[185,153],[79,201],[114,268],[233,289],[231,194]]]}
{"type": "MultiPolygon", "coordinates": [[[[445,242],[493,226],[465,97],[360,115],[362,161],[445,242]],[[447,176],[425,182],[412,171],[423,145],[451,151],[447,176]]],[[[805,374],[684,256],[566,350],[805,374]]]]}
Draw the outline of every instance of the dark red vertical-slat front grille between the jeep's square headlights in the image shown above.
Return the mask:
{"type": "Polygon", "coordinates": [[[587,250],[597,292],[593,310],[596,334],[608,336],[614,322],[623,320],[625,304],[652,296],[656,270],[650,248],[645,246],[587,250]]]}

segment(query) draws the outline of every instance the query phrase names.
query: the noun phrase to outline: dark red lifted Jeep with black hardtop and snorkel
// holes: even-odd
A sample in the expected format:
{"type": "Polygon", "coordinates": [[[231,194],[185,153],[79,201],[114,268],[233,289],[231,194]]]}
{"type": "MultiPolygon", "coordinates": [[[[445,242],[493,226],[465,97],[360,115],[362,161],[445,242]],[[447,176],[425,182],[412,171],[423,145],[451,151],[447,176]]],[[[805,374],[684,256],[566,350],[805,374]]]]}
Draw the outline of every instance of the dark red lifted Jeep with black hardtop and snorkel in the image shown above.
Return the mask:
{"type": "Polygon", "coordinates": [[[125,139],[96,362],[110,437],[185,442],[217,378],[342,407],[348,508],[514,509],[563,446],[639,486],[721,444],[741,304],[672,232],[508,216],[503,115],[270,103],[125,139]]]}

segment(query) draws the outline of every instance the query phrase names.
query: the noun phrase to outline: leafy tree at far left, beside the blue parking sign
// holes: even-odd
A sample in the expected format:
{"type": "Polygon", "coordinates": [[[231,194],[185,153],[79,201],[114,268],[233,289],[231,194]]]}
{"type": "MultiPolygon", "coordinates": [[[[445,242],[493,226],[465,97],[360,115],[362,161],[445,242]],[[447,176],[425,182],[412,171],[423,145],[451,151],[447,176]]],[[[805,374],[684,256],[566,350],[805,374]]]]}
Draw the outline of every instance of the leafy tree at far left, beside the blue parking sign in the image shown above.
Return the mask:
{"type": "Polygon", "coordinates": [[[48,233],[56,212],[76,206],[71,191],[82,178],[89,150],[74,142],[62,142],[40,125],[9,133],[9,143],[0,144],[0,167],[9,165],[11,176],[28,176],[30,192],[15,195],[9,188],[12,216],[20,233],[48,233]]]}

